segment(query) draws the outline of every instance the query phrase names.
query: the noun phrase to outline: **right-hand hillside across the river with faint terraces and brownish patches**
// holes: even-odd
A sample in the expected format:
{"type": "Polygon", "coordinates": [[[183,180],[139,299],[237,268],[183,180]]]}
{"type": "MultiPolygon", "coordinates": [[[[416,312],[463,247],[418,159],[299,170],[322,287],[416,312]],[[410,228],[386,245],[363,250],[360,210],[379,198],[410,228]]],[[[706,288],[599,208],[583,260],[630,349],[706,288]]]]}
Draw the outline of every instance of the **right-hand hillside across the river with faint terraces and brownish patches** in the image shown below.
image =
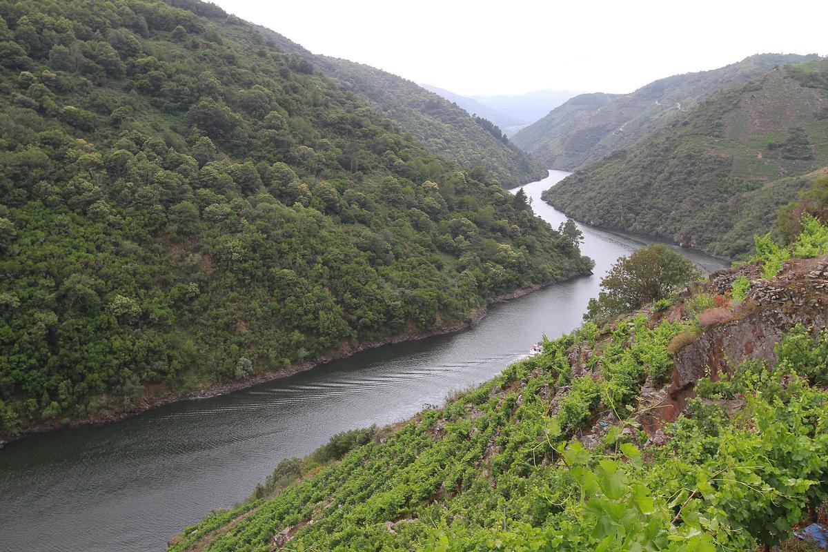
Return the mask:
{"type": "Polygon", "coordinates": [[[544,199],[587,223],[736,257],[808,185],[800,176],[826,165],[828,60],[814,60],[711,95],[544,199]]]}

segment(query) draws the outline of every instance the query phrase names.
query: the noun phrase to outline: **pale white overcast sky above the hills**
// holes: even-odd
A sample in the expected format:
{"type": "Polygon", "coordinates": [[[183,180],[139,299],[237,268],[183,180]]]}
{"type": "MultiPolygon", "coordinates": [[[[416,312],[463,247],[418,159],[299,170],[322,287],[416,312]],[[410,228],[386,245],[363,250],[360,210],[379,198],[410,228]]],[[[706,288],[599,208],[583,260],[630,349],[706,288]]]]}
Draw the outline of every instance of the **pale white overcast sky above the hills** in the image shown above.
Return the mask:
{"type": "Polygon", "coordinates": [[[316,54],[458,94],[629,92],[762,52],[828,54],[828,0],[213,0],[316,54]]]}

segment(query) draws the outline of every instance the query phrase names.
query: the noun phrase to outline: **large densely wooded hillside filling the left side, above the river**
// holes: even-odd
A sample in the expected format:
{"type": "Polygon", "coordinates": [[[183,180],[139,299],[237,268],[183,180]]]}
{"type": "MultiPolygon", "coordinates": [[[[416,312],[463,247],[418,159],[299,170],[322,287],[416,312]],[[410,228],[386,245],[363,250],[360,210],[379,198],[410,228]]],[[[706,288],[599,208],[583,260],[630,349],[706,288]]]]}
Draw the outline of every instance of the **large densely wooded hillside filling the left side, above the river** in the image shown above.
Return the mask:
{"type": "Polygon", "coordinates": [[[588,271],[490,180],[211,4],[0,2],[0,425],[469,320],[588,271]]]}

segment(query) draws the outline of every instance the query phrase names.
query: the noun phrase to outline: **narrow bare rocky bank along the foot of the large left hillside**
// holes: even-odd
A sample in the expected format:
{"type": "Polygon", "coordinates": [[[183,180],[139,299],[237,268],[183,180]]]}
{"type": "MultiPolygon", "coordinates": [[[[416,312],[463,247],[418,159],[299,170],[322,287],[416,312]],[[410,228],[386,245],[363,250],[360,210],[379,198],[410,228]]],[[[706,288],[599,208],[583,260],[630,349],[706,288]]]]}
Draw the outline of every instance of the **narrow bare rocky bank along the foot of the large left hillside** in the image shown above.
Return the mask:
{"type": "Polygon", "coordinates": [[[289,367],[283,367],[278,370],[259,372],[251,377],[243,378],[235,382],[218,382],[209,384],[208,386],[204,386],[195,391],[186,391],[178,393],[171,391],[161,396],[147,397],[143,399],[140,403],[138,403],[135,406],[132,406],[132,408],[129,409],[111,410],[101,415],[85,416],[83,418],[71,420],[69,423],[65,424],[61,424],[60,421],[55,420],[46,424],[32,425],[31,427],[27,427],[21,430],[21,432],[16,435],[6,435],[0,433],[0,449],[2,449],[3,446],[7,444],[10,444],[29,435],[41,434],[46,433],[48,431],[63,430],[73,427],[81,427],[84,425],[113,424],[115,422],[125,420],[132,416],[141,415],[144,412],[147,412],[147,410],[152,410],[160,406],[170,405],[175,402],[209,399],[215,396],[222,396],[228,393],[233,393],[234,391],[241,391],[243,389],[247,389],[248,387],[257,386],[262,383],[272,382],[274,380],[282,379],[284,377],[291,377],[296,375],[297,373],[312,370],[315,367],[319,367],[322,364],[333,362],[335,360],[339,360],[342,358],[349,358],[356,353],[361,353],[363,351],[368,351],[370,349],[380,348],[386,345],[393,345],[397,343],[418,341],[420,339],[431,338],[436,335],[453,334],[455,332],[459,332],[460,330],[474,327],[475,325],[479,324],[479,322],[482,319],[484,319],[486,314],[488,314],[490,305],[493,305],[495,303],[502,303],[503,301],[517,299],[517,297],[522,297],[523,295],[527,295],[529,293],[532,293],[533,291],[541,290],[547,286],[552,286],[563,281],[569,281],[579,276],[589,276],[590,274],[592,274],[592,271],[575,271],[570,274],[567,274],[566,276],[561,277],[560,280],[548,281],[542,284],[537,284],[535,286],[525,288],[517,288],[517,290],[497,295],[487,300],[487,302],[484,305],[481,305],[479,309],[476,312],[474,312],[474,314],[472,314],[472,316],[469,319],[457,322],[455,324],[449,324],[447,326],[442,326],[440,328],[417,332],[416,334],[397,334],[389,336],[388,338],[378,339],[376,341],[368,343],[359,343],[356,345],[347,343],[344,345],[344,347],[339,348],[339,350],[335,351],[334,353],[325,355],[322,358],[317,358],[312,361],[299,362],[297,364],[293,364],[289,367]]]}

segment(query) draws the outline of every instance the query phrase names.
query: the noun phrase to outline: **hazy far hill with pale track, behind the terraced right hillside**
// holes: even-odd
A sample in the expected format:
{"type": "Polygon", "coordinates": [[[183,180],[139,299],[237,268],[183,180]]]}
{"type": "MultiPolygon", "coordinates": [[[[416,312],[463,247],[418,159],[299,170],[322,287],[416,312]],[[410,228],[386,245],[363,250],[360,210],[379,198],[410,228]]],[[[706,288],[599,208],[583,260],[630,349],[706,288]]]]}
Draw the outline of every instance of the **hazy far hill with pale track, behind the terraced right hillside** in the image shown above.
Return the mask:
{"type": "Polygon", "coordinates": [[[524,128],[513,142],[552,169],[575,170],[631,146],[716,90],[816,55],[752,55],[720,69],[676,74],[632,94],[584,94],[524,128]],[[590,108],[586,108],[589,106],[590,108]]]}

